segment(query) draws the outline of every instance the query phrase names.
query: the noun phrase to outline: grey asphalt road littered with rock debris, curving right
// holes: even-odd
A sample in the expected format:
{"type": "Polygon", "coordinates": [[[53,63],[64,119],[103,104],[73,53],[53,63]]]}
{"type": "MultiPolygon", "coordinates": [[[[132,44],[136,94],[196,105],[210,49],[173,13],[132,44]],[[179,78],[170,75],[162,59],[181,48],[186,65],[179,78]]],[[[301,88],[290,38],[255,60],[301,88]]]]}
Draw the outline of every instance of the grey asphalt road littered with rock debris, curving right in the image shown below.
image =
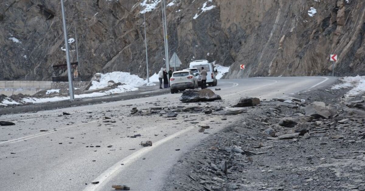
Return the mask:
{"type": "MultiPolygon", "coordinates": [[[[229,107],[243,96],[277,98],[330,85],[336,80],[334,77],[219,80],[218,86],[211,89],[221,88],[215,92],[223,101],[200,106],[229,107]]],[[[220,115],[186,112],[178,113],[176,120],[168,120],[165,115],[130,115],[132,107],[144,111],[150,107],[199,105],[180,103],[180,96],[181,93],[168,94],[0,116],[0,121],[16,123],[0,127],[0,190],[110,191],[111,185],[117,184],[136,191],[160,191],[169,170],[185,152],[240,118],[224,116],[227,120],[222,121],[220,115]],[[115,123],[103,122],[105,116],[115,123]],[[211,126],[205,130],[207,134],[197,131],[199,124],[211,126]],[[141,137],[128,137],[135,134],[141,137]],[[147,140],[153,146],[139,145],[147,140]]]]}

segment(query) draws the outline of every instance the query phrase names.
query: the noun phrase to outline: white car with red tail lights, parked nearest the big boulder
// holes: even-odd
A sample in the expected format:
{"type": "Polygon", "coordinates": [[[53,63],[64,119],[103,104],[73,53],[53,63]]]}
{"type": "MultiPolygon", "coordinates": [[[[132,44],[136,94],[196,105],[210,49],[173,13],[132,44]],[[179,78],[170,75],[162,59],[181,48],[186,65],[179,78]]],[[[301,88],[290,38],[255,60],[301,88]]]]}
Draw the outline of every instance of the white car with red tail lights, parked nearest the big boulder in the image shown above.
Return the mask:
{"type": "Polygon", "coordinates": [[[191,70],[182,70],[172,73],[170,78],[171,93],[177,93],[179,90],[195,89],[198,87],[198,81],[191,70]]]}

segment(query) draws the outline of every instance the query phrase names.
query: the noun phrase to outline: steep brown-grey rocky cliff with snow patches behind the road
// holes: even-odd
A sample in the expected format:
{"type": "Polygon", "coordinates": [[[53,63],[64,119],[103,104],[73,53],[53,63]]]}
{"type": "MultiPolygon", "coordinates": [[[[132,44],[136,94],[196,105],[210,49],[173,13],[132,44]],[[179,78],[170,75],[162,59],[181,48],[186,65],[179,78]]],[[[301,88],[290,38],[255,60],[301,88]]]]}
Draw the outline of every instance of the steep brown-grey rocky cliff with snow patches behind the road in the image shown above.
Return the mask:
{"type": "MultiPolygon", "coordinates": [[[[227,78],[364,75],[365,1],[168,0],[170,55],[187,66],[207,59],[231,66],[227,78]],[[241,74],[239,64],[246,64],[241,74]]],[[[121,70],[146,76],[164,66],[160,0],[65,0],[71,60],[80,72],[121,70]]],[[[0,79],[49,80],[65,63],[59,0],[0,3],[0,79]]]]}

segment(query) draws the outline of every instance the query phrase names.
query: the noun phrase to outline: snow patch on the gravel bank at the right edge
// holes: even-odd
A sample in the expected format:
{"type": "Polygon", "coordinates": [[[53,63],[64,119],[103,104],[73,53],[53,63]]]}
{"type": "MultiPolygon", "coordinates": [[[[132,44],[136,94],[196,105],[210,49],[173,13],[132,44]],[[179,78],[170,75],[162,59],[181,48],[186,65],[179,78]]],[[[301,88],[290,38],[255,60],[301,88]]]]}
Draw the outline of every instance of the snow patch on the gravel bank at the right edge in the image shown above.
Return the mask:
{"type": "Polygon", "coordinates": [[[365,76],[342,77],[341,84],[334,85],[331,89],[352,88],[345,97],[353,97],[365,93],[365,76]]]}

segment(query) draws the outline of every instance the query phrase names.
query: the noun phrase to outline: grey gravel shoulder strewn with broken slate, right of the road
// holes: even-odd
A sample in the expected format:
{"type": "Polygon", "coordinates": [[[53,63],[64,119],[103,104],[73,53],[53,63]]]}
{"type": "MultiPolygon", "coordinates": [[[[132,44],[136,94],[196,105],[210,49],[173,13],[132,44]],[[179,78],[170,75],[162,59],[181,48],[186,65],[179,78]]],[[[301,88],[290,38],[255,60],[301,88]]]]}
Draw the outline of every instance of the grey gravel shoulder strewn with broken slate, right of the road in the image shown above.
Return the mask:
{"type": "Polygon", "coordinates": [[[270,100],[247,108],[186,153],[164,190],[365,190],[364,98],[345,101],[346,91],[323,88],[294,95],[305,99],[299,104],[270,100]],[[326,103],[328,119],[306,116],[314,101],[326,103]],[[283,123],[288,117],[296,123],[283,123]],[[264,132],[269,128],[274,136],[264,132]]]}

